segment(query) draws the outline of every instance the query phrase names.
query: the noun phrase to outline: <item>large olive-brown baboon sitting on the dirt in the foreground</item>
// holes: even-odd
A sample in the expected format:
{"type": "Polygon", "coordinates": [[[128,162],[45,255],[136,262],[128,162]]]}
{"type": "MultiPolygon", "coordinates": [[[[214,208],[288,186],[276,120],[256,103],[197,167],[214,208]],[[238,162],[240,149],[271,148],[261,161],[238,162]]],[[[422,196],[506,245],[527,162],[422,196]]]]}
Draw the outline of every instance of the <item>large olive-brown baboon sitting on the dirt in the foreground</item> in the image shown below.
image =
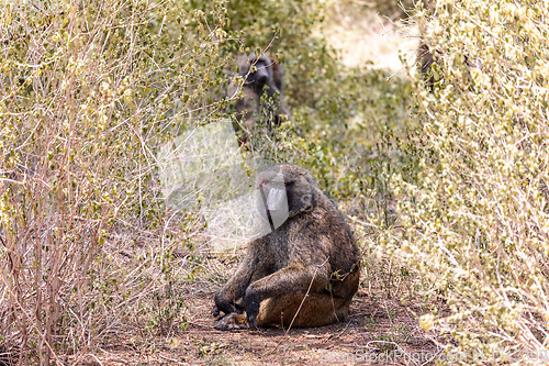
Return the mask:
{"type": "Polygon", "coordinates": [[[215,329],[345,320],[358,289],[360,259],[335,203],[306,169],[288,164],[258,174],[255,199],[270,232],[248,243],[236,273],[215,295],[212,314],[225,313],[215,329]]]}

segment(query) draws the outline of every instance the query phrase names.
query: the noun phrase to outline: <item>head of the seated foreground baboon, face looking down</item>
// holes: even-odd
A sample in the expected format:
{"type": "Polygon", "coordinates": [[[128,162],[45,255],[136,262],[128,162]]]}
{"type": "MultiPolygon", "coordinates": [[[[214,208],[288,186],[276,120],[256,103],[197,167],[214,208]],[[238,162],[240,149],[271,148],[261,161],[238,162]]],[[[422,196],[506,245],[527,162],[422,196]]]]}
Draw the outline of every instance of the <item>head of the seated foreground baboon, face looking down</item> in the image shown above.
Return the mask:
{"type": "Polygon", "coordinates": [[[260,173],[256,191],[259,214],[271,220],[273,229],[314,206],[312,177],[306,170],[291,165],[274,166],[260,173]]]}

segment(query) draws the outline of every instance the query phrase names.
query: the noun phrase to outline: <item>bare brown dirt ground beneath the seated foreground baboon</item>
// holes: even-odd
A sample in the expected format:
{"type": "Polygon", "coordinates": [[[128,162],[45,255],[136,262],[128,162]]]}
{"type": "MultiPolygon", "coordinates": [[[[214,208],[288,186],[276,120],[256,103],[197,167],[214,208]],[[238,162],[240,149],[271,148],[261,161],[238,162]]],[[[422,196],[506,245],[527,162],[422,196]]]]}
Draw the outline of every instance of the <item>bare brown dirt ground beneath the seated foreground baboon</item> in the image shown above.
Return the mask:
{"type": "Polygon", "coordinates": [[[213,329],[213,295],[189,293],[186,331],[104,345],[86,365],[430,365],[440,352],[417,325],[413,308],[372,300],[365,289],[346,322],[235,332],[213,329]]]}

